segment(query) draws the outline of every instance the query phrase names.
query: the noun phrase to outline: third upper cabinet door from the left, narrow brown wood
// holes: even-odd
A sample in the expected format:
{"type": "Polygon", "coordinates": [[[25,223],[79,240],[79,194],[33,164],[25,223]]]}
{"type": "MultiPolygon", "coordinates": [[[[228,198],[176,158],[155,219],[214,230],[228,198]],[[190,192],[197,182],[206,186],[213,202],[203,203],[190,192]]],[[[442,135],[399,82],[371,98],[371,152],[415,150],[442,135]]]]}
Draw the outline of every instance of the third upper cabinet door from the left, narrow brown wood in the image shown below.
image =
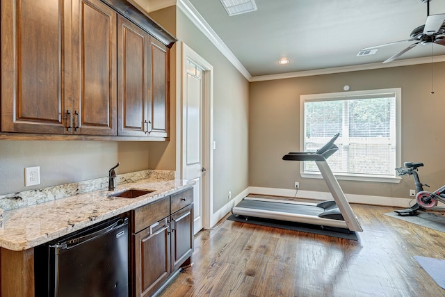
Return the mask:
{"type": "Polygon", "coordinates": [[[118,135],[147,136],[150,35],[118,17],[118,135]]]}

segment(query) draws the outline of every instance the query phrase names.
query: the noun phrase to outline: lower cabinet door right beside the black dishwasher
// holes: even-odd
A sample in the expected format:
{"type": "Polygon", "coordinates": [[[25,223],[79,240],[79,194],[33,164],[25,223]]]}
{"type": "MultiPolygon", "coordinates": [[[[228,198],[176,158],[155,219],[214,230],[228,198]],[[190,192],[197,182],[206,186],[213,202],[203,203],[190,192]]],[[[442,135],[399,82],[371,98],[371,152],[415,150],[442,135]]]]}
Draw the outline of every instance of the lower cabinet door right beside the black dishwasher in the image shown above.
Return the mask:
{"type": "Polygon", "coordinates": [[[133,237],[135,296],[150,296],[170,275],[170,232],[167,218],[133,237]]]}

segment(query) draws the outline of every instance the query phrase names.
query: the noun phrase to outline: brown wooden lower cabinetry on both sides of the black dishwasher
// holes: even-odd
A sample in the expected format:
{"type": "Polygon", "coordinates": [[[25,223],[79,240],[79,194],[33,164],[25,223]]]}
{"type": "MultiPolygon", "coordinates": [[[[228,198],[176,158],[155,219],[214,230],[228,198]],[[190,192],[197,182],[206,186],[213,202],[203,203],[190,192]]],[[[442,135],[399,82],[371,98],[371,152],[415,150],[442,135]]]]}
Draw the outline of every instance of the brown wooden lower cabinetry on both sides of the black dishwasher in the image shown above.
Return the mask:
{"type": "MultiPolygon", "coordinates": [[[[130,217],[130,296],[152,296],[192,264],[193,188],[139,207],[130,217]]],[[[34,266],[34,248],[0,248],[0,296],[34,296],[34,266]]]]}

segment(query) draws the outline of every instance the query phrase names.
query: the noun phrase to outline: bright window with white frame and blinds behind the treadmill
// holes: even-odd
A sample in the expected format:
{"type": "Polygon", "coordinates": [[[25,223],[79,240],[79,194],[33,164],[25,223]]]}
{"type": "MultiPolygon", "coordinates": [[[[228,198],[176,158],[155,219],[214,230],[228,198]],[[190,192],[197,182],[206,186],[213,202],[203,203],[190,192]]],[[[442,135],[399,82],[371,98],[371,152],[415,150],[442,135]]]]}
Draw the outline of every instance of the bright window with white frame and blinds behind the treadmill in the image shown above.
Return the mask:
{"type": "MultiPolygon", "coordinates": [[[[315,152],[334,134],[339,151],[327,159],[338,179],[400,182],[401,89],[302,95],[302,151],[315,152]]],[[[302,177],[321,177],[314,161],[302,177]]]]}

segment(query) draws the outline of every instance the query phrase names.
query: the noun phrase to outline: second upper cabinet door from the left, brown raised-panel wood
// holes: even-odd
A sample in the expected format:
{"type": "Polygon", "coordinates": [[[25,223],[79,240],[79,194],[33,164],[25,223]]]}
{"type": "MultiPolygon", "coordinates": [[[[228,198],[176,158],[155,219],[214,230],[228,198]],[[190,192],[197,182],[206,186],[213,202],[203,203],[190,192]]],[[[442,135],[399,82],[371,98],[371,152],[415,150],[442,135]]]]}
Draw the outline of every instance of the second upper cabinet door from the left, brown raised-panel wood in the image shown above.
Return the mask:
{"type": "Polygon", "coordinates": [[[99,0],[73,0],[74,133],[117,135],[117,13],[99,0]]]}

